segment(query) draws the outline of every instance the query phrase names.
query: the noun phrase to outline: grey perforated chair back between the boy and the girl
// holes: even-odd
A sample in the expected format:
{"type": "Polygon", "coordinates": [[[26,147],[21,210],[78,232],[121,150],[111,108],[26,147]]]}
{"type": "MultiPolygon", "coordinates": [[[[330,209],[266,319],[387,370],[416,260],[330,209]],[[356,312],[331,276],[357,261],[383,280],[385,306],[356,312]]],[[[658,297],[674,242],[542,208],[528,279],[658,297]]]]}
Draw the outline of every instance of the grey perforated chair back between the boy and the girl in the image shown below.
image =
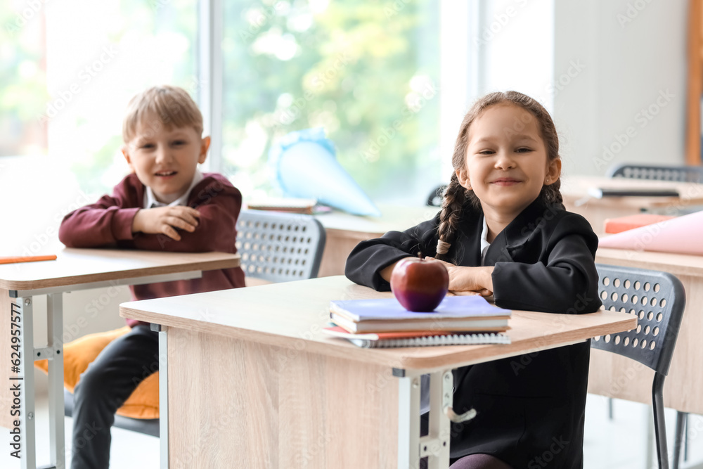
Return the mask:
{"type": "Polygon", "coordinates": [[[242,269],[266,281],[315,278],[325,239],[324,227],[311,215],[242,210],[237,220],[242,269]]]}

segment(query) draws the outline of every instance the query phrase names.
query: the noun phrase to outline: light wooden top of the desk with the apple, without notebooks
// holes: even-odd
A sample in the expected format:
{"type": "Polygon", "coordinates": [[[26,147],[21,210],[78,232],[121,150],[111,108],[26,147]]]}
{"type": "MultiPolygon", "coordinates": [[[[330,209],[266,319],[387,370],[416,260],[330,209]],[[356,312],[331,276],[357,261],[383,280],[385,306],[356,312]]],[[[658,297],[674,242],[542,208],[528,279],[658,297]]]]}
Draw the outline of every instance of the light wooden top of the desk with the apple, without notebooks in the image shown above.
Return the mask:
{"type": "Polygon", "coordinates": [[[278,347],[304,347],[307,352],[358,359],[396,368],[427,369],[479,363],[557,345],[581,342],[608,331],[636,326],[631,314],[544,314],[513,311],[510,345],[362,349],[321,331],[329,319],[330,300],[392,297],[355,285],[342,276],[221,290],[180,297],[127,302],[120,316],[224,335],[278,347]]]}

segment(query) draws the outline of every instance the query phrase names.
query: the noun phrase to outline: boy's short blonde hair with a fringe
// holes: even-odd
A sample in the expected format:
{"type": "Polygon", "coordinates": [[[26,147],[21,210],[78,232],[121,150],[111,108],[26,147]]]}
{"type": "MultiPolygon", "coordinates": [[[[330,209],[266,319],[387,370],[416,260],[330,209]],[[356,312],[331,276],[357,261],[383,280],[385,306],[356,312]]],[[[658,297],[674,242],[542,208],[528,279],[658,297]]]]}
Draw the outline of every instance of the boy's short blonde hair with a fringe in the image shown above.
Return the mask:
{"type": "Polygon", "coordinates": [[[134,139],[139,124],[148,126],[150,131],[193,127],[202,136],[200,109],[188,92],[178,86],[153,86],[129,100],[122,121],[124,143],[134,139]],[[149,122],[145,121],[147,116],[149,122]]]}

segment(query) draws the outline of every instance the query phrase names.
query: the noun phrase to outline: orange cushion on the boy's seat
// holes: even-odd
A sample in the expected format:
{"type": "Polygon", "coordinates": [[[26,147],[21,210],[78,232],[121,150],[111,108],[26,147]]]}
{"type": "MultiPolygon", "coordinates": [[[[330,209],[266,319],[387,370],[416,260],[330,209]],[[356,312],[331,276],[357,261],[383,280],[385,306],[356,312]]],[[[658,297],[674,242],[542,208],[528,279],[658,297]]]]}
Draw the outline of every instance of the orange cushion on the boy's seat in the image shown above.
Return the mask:
{"type": "MultiPolygon", "coordinates": [[[[86,371],[91,361],[95,360],[112,340],[128,333],[129,329],[129,326],[124,326],[108,332],[89,334],[65,344],[63,346],[63,384],[66,389],[73,392],[81,373],[86,371]]],[[[49,369],[49,361],[35,361],[34,366],[46,372],[49,369]]],[[[159,418],[158,371],[139,383],[122,407],[117,409],[117,414],[131,418],[159,418]]]]}

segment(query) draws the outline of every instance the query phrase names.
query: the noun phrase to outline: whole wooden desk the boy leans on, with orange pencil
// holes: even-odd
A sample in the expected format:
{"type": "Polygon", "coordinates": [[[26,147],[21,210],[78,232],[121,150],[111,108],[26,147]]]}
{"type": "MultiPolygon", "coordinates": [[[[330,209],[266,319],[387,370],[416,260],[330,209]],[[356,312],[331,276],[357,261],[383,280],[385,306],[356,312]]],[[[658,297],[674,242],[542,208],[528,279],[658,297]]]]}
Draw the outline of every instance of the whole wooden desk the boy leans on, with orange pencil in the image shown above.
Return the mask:
{"type": "MultiPolygon", "coordinates": [[[[62,294],[87,288],[137,285],[198,278],[202,271],[239,265],[239,255],[222,252],[176,253],[107,249],[63,249],[58,259],[0,265],[0,426],[15,428],[20,420],[22,469],[37,465],[34,447],[34,360],[49,359],[49,432],[51,465],[65,468],[63,423],[63,304],[62,294]],[[47,295],[47,345],[34,347],[32,300],[47,295]],[[11,317],[20,322],[11,323],[11,317]],[[15,326],[11,326],[11,324],[15,326]],[[11,330],[21,330],[20,349],[11,349],[11,330]],[[11,353],[21,354],[19,373],[11,368],[11,353]],[[21,377],[21,378],[20,378],[21,377]],[[19,379],[18,379],[19,378],[19,379]],[[8,385],[9,383],[9,385],[8,385]],[[20,385],[20,416],[11,416],[10,385],[20,385]]],[[[4,435],[8,435],[4,432],[4,435]]],[[[6,442],[1,440],[6,451],[6,442]]],[[[14,451],[14,450],[12,450],[14,451]]]]}

